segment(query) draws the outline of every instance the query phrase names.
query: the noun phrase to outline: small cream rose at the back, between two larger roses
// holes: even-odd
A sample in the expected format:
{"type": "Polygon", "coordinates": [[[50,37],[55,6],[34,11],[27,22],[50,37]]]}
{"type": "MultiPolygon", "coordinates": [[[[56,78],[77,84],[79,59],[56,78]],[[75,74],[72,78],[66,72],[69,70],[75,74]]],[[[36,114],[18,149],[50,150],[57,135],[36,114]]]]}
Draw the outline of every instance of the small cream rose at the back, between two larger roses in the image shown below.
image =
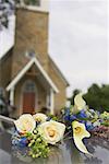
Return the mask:
{"type": "Polygon", "coordinates": [[[33,115],[33,118],[37,122],[45,122],[47,120],[47,116],[45,114],[41,114],[41,113],[37,113],[37,114],[33,115]]]}

